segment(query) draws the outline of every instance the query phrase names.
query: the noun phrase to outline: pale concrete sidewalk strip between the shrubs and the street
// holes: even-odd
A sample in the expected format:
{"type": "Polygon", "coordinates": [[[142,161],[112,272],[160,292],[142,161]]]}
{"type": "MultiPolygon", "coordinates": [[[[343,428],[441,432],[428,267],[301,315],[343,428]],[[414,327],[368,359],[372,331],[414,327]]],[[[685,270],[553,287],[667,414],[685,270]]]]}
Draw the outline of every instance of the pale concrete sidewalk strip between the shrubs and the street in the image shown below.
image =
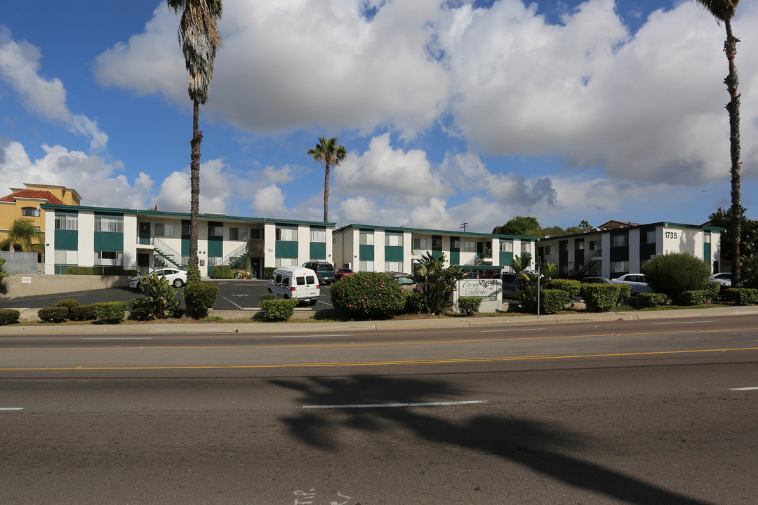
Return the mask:
{"type": "Polygon", "coordinates": [[[688,310],[646,310],[631,312],[553,314],[549,316],[445,317],[417,320],[347,321],[329,323],[143,323],[80,326],[0,326],[0,338],[18,335],[171,335],[171,334],[240,334],[264,333],[318,334],[371,330],[414,330],[434,328],[471,328],[475,326],[534,326],[590,321],[653,320],[683,317],[743,316],[758,314],[758,306],[718,307],[688,310]]]}

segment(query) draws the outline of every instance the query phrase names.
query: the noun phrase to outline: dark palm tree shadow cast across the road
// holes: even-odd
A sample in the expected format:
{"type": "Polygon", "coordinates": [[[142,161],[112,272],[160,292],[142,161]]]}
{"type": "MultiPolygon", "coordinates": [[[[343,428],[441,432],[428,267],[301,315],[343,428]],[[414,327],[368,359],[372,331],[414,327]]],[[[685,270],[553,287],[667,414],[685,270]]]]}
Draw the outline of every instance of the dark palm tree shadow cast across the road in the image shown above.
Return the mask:
{"type": "MultiPolygon", "coordinates": [[[[412,404],[446,401],[461,391],[440,380],[405,377],[349,376],[271,381],[299,391],[305,405],[412,404]]],[[[377,435],[403,427],[421,440],[481,450],[559,479],[568,485],[606,494],[639,505],[707,505],[648,484],[596,463],[572,457],[566,449],[581,444],[575,435],[549,423],[504,416],[473,416],[449,422],[414,407],[341,409],[340,416],[309,411],[287,416],[283,422],[293,437],[324,450],[337,447],[340,427],[377,435]],[[340,421],[334,421],[340,419],[340,421]]]]}

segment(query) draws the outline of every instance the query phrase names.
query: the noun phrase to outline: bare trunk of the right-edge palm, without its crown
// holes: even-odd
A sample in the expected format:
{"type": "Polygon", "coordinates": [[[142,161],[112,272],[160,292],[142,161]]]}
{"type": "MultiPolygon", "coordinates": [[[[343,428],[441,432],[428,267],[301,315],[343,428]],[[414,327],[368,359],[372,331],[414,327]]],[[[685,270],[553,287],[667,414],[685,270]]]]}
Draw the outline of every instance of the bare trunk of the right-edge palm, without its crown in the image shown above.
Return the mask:
{"type": "Polygon", "coordinates": [[[729,75],[724,79],[724,83],[729,91],[731,100],[726,104],[726,110],[729,112],[729,140],[731,151],[731,228],[735,235],[735,249],[731,255],[731,278],[732,285],[735,288],[742,287],[742,275],[740,271],[740,242],[742,232],[742,205],[740,204],[740,94],[737,92],[740,79],[735,66],[735,56],[737,55],[737,42],[740,39],[731,33],[731,22],[725,20],[726,41],[724,42],[724,52],[729,61],[729,75]]]}

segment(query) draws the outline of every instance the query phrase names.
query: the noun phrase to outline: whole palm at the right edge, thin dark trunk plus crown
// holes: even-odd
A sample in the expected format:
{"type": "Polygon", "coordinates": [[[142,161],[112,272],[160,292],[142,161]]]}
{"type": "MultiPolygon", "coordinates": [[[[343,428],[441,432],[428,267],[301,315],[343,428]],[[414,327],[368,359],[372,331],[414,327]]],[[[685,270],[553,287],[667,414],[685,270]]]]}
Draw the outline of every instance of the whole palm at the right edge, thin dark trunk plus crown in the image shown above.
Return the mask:
{"type": "Polygon", "coordinates": [[[735,11],[740,0],[695,0],[716,17],[723,21],[726,26],[726,40],[724,52],[729,61],[729,75],[724,79],[731,100],[726,104],[729,112],[729,140],[731,151],[731,233],[735,238],[735,248],[731,254],[731,278],[732,286],[739,288],[742,285],[740,272],[740,233],[742,227],[742,214],[744,208],[740,204],[740,95],[737,92],[740,79],[735,67],[737,55],[737,42],[740,39],[731,33],[731,18],[735,17],[735,11]]]}

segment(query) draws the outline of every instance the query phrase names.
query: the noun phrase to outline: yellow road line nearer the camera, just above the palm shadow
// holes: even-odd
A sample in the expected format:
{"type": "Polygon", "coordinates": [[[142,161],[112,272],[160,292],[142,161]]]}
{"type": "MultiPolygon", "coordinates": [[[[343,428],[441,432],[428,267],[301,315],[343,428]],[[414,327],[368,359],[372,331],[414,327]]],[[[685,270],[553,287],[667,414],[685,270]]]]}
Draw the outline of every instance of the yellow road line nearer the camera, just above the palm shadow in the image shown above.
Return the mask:
{"type": "Polygon", "coordinates": [[[271,368],[315,368],[334,366],[384,366],[384,365],[428,365],[445,363],[492,363],[496,361],[526,361],[526,360],[570,360],[577,358],[603,357],[633,357],[633,356],[662,356],[665,354],[696,354],[735,351],[758,351],[758,348],[729,348],[729,349],[691,349],[686,351],[648,351],[634,353],[612,354],[573,354],[566,356],[503,356],[503,357],[472,357],[454,360],[399,360],[399,361],[362,361],[341,363],[282,363],[278,365],[194,365],[194,366],[43,366],[0,368],[2,372],[22,371],[77,371],[77,370],[208,370],[208,369],[271,369],[271,368]]]}

